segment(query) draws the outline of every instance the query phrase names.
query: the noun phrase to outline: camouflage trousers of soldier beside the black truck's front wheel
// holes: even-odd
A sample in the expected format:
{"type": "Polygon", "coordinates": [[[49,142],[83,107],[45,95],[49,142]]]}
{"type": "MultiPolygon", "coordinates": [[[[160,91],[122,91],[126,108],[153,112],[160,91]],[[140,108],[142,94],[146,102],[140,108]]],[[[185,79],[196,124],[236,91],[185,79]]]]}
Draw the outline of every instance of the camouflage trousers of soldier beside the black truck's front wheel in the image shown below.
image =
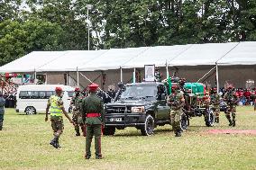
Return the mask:
{"type": "Polygon", "coordinates": [[[180,127],[181,115],[182,115],[181,109],[170,111],[170,124],[174,132],[181,130],[181,127],[180,127]]]}

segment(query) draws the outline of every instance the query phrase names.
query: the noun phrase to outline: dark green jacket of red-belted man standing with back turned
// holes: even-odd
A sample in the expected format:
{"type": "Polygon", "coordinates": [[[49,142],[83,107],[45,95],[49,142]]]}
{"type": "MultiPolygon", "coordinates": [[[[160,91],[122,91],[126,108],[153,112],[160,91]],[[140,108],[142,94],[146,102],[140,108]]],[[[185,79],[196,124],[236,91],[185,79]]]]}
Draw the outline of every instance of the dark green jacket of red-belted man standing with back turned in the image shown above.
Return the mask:
{"type": "Polygon", "coordinates": [[[89,94],[83,99],[81,111],[86,124],[102,124],[104,121],[103,101],[96,94],[89,94]],[[100,113],[101,117],[87,118],[87,113],[100,113]]]}

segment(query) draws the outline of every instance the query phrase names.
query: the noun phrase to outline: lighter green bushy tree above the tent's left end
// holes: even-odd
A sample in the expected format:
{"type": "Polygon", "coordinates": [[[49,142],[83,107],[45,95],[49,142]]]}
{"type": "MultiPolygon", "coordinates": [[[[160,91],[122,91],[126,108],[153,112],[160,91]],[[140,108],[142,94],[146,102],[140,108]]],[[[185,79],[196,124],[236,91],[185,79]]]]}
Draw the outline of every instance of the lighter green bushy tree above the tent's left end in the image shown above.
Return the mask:
{"type": "Polygon", "coordinates": [[[0,65],[23,57],[33,50],[59,49],[63,33],[58,24],[40,20],[1,22],[0,65]]]}

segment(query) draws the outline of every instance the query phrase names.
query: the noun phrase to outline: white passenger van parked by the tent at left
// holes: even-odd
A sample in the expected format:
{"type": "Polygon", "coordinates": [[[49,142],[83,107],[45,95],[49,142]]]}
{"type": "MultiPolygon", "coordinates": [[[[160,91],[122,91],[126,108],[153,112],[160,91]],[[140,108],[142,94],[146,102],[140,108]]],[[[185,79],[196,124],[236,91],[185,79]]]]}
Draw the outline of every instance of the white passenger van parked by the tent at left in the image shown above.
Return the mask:
{"type": "Polygon", "coordinates": [[[50,95],[55,94],[56,86],[62,88],[64,107],[66,112],[69,112],[70,101],[74,94],[74,88],[69,85],[20,85],[16,95],[16,112],[44,113],[50,95]]]}

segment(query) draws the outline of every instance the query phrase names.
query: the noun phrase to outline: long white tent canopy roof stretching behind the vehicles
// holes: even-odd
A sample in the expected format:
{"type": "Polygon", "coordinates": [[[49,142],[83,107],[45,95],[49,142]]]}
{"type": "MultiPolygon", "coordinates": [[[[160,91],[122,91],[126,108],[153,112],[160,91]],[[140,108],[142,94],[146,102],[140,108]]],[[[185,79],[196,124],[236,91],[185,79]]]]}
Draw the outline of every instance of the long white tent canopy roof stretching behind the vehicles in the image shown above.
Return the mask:
{"type": "Polygon", "coordinates": [[[188,44],[128,49],[33,51],[0,72],[95,71],[154,64],[169,66],[256,65],[256,42],[188,44]]]}

